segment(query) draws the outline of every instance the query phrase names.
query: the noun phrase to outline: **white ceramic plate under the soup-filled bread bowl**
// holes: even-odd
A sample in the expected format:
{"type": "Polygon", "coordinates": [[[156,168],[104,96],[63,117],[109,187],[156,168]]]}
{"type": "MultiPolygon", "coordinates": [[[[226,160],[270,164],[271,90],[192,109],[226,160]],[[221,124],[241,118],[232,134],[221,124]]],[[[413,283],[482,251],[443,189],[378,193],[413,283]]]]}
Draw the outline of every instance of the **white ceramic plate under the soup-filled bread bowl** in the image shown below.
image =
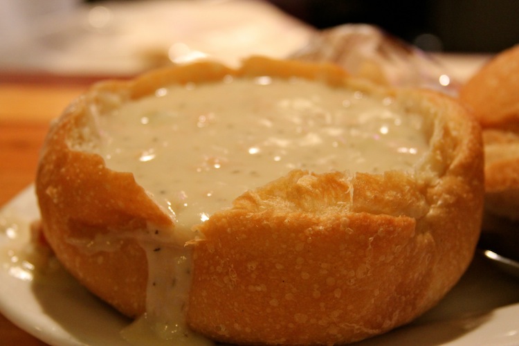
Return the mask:
{"type": "MultiPolygon", "coordinates": [[[[37,218],[32,186],[0,211],[0,312],[51,345],[129,345],[120,337],[129,320],[59,266],[42,275],[17,260],[37,218]]],[[[356,345],[519,345],[519,280],[476,257],[435,309],[411,325],[356,345]]]]}

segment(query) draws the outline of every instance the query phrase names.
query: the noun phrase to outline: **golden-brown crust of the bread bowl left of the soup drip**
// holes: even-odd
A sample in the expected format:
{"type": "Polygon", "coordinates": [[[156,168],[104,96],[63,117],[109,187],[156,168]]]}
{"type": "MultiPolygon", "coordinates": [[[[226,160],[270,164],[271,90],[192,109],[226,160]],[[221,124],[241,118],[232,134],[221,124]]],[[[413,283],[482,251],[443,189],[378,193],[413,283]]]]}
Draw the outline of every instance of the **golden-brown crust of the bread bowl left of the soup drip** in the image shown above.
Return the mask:
{"type": "Polygon", "coordinates": [[[107,251],[89,253],[86,245],[103,233],[124,235],[142,229],[149,219],[163,223],[165,217],[131,174],[111,172],[99,156],[69,149],[67,138],[80,126],[82,107],[84,100],[53,125],[42,151],[36,187],[44,235],[60,262],[84,286],[132,316],[144,309],[143,250],[124,236],[107,251]],[[127,282],[120,282],[121,277],[127,282]],[[127,287],[104,289],[122,284],[127,287]]]}

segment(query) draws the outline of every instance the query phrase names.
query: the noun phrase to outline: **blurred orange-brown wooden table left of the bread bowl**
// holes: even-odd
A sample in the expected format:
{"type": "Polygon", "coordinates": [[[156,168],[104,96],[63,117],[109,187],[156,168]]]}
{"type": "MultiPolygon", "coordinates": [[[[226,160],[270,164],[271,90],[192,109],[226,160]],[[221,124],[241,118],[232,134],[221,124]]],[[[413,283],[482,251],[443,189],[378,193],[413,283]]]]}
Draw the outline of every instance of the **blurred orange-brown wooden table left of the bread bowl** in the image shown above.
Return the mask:
{"type": "MultiPolygon", "coordinates": [[[[0,206],[33,183],[51,120],[102,78],[0,73],[0,206]]],[[[0,314],[0,345],[46,344],[0,314]]]]}

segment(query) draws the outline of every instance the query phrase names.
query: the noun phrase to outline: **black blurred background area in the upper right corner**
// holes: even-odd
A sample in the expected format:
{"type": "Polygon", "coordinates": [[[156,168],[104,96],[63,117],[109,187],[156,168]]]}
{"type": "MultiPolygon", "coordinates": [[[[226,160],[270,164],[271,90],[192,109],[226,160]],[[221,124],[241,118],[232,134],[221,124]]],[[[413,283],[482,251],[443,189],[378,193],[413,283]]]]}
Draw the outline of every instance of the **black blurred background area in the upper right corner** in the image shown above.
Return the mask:
{"type": "Polygon", "coordinates": [[[374,24],[426,51],[495,53],[519,43],[517,0],[272,0],[316,28],[374,24]]]}

